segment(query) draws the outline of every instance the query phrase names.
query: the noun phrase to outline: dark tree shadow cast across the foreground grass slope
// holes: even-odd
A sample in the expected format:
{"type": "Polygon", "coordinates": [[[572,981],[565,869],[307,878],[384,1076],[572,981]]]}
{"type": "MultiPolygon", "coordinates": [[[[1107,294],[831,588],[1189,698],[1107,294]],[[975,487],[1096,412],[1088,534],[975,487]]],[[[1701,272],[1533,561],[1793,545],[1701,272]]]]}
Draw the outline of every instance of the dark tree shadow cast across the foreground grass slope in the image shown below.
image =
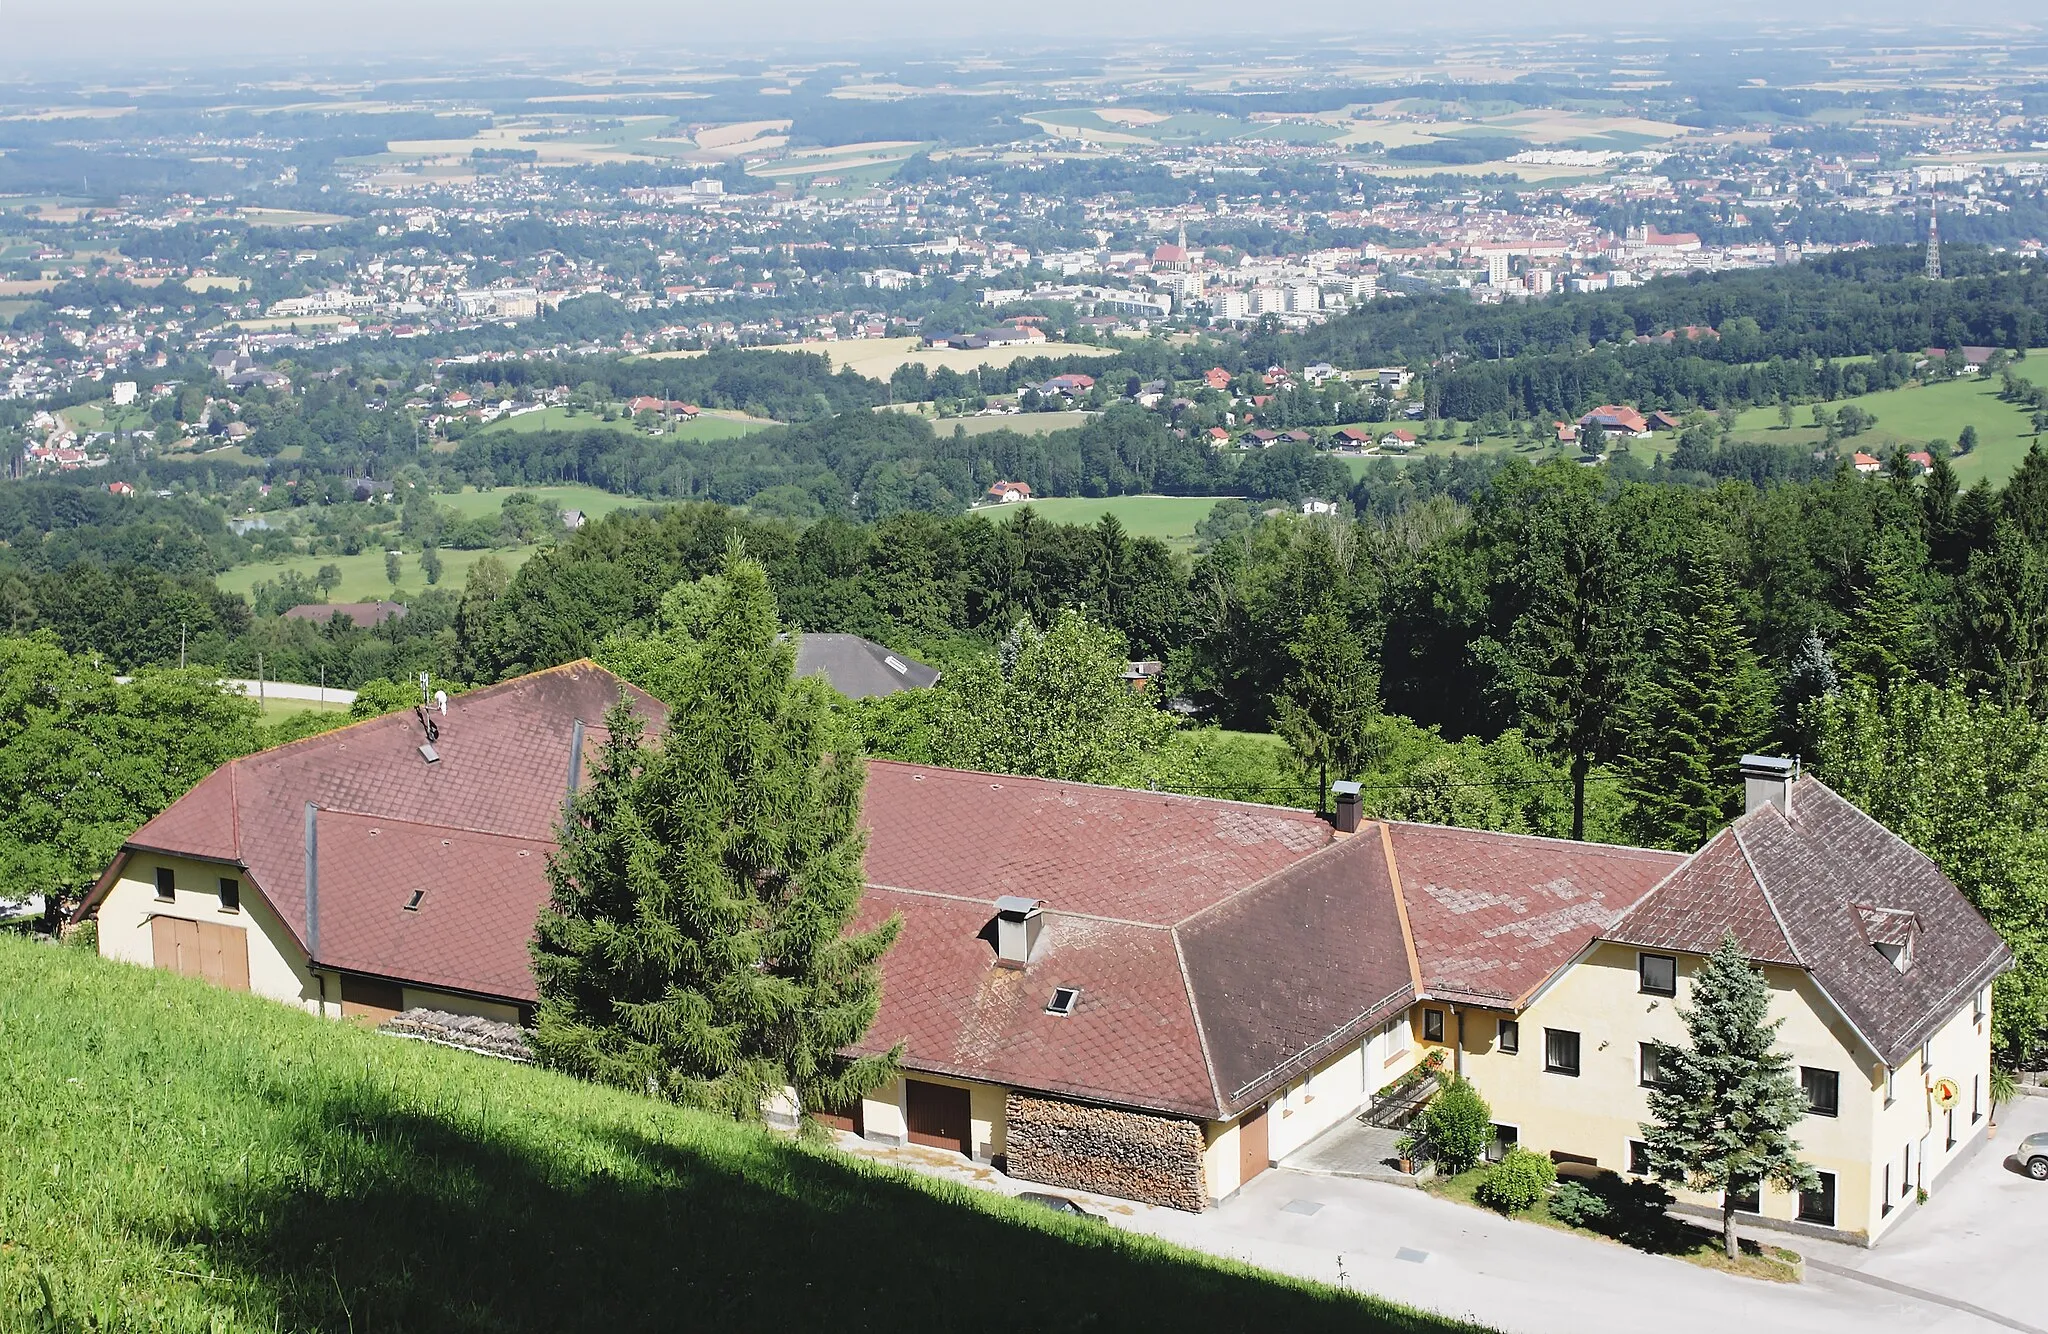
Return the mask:
{"type": "MultiPolygon", "coordinates": [[[[201,1248],[285,1330],[1401,1330],[1458,1322],[1032,1223],[737,1127],[575,1145],[276,1090],[293,1180],[209,1184],[201,1248]],[[559,1148],[561,1152],[555,1152],[559,1148]]],[[[956,1197],[965,1191],[950,1189],[956,1197]]],[[[248,1309],[258,1307],[258,1309],[248,1309]]]]}

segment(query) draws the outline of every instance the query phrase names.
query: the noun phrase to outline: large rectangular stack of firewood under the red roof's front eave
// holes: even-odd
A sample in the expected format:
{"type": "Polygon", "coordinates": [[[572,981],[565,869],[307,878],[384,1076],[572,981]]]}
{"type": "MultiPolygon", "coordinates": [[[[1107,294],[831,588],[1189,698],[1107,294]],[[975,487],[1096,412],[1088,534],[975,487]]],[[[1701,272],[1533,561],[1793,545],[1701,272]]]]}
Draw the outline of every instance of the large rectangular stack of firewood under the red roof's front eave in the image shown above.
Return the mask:
{"type": "Polygon", "coordinates": [[[1006,1170],[1069,1191],[1147,1205],[1208,1207],[1202,1123],[1010,1094],[1006,1170]]]}

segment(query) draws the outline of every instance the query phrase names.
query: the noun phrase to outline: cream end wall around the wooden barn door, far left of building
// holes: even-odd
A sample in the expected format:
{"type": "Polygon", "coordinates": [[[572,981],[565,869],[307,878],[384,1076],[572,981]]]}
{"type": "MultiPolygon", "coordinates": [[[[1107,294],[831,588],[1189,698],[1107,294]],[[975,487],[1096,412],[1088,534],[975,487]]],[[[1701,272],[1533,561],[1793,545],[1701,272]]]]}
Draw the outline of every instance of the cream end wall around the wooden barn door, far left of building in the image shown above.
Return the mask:
{"type": "MultiPolygon", "coordinates": [[[[250,992],[319,1012],[319,979],[305,967],[299,943],[256,891],[246,871],[188,857],[135,852],[121,869],[121,879],[100,900],[100,955],[154,967],[152,916],[242,926],[250,939],[250,992]],[[178,877],[176,898],[168,904],[156,898],[158,867],[170,867],[178,877]],[[240,912],[221,910],[221,877],[242,881],[240,912]]],[[[334,996],[332,982],[328,986],[330,996],[334,996]]]]}

